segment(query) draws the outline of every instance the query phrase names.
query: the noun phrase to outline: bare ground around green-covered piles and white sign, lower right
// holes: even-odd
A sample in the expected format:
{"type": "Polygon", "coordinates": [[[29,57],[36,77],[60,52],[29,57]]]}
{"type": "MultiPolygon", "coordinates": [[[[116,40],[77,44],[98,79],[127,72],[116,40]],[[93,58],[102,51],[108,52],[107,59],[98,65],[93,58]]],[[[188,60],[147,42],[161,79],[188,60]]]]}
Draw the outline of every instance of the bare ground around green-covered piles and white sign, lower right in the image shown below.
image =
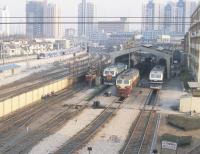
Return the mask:
{"type": "Polygon", "coordinates": [[[166,149],[161,150],[160,136],[168,133],[176,136],[192,136],[192,143],[190,146],[178,147],[178,154],[187,154],[193,148],[200,144],[200,129],[194,131],[184,131],[167,124],[166,117],[168,114],[183,114],[178,110],[172,109],[172,106],[179,106],[179,100],[185,92],[182,89],[180,80],[171,79],[165,83],[160,92],[159,98],[159,113],[161,114],[160,126],[158,129],[157,149],[160,154],[173,154],[175,151],[166,149]]]}

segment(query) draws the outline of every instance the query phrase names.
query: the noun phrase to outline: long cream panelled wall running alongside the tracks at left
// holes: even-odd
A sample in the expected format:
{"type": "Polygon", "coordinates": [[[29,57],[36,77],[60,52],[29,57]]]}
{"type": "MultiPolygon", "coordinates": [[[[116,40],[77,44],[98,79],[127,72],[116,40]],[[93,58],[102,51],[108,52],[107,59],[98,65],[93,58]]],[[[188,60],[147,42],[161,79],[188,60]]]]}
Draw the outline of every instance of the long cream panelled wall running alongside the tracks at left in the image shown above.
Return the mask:
{"type": "Polygon", "coordinates": [[[44,87],[34,89],[24,94],[12,97],[10,99],[0,102],[0,117],[10,114],[18,109],[21,109],[27,105],[35,102],[39,102],[41,97],[51,92],[59,92],[75,82],[75,79],[65,78],[53,83],[50,83],[44,87]]]}

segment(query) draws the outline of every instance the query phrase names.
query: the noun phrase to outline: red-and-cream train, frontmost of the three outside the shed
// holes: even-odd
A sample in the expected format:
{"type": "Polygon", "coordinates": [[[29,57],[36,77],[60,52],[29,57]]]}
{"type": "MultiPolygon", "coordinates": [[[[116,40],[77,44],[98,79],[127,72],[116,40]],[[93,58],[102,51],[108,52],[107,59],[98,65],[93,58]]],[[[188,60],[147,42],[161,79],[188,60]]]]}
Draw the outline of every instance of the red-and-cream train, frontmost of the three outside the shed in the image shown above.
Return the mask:
{"type": "Polygon", "coordinates": [[[133,88],[137,85],[140,73],[137,69],[129,69],[117,77],[116,87],[119,97],[130,96],[133,88]]]}

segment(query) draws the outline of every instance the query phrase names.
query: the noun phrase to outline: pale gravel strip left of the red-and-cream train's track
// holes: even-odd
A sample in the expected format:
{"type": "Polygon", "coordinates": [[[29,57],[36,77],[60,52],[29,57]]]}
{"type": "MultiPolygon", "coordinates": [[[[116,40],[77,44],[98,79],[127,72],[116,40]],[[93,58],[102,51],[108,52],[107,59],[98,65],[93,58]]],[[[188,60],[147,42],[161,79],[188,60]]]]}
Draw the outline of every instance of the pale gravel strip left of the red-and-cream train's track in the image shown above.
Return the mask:
{"type": "Polygon", "coordinates": [[[58,132],[40,141],[29,154],[47,154],[59,150],[64,143],[92,122],[102,111],[102,109],[85,109],[58,132]]]}

